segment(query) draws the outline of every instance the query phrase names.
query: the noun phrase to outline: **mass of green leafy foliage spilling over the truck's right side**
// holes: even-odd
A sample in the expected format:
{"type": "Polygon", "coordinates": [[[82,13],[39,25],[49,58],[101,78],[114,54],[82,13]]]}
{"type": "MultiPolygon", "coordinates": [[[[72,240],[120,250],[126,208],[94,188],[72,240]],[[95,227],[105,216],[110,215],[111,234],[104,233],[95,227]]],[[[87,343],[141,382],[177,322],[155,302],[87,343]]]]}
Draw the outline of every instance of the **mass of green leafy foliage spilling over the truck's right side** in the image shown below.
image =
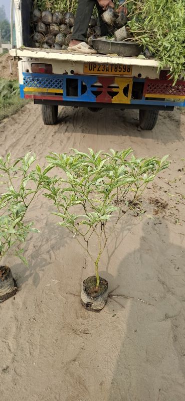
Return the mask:
{"type": "Polygon", "coordinates": [[[170,67],[174,81],[184,77],[184,0],[128,0],[128,5],[128,25],[136,41],[161,60],[160,68],[170,67]]]}

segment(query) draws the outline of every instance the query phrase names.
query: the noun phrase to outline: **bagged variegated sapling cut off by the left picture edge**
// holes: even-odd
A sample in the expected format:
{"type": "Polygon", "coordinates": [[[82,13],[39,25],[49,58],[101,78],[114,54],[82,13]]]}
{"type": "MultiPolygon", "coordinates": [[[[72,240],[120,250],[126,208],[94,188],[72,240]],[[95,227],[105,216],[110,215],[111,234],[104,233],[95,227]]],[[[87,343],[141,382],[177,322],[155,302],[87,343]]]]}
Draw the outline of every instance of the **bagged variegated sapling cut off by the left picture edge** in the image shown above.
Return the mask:
{"type": "MultiPolygon", "coordinates": [[[[10,251],[26,265],[24,243],[30,232],[38,232],[33,222],[26,221],[26,213],[37,192],[42,187],[42,173],[37,165],[32,170],[36,157],[28,153],[25,157],[11,159],[9,153],[0,158],[1,194],[0,194],[0,260],[10,251]]],[[[12,297],[18,291],[10,268],[0,265],[0,303],[12,297]]]]}

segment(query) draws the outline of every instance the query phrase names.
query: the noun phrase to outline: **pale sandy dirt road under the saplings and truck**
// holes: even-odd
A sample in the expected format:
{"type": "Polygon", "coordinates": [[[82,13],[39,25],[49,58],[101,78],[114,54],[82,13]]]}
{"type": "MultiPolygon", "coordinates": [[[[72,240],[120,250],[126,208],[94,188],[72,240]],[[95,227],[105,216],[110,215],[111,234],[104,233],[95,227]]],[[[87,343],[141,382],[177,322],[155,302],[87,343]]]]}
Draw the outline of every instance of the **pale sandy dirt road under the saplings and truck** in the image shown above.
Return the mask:
{"type": "Polygon", "coordinates": [[[26,246],[29,269],[7,260],[20,291],[0,306],[1,401],[185,399],[185,117],[161,113],[152,132],[137,124],[135,111],[61,108],[59,125],[47,127],[32,104],[0,124],[3,156],[33,150],[43,162],[51,150],[131,146],[172,161],[145,192],[150,217],[126,217],[101,261],[110,291],[133,298],[111,298],[100,313],[80,304],[91,263],[47,200],[33,205],[41,234],[26,246]]]}

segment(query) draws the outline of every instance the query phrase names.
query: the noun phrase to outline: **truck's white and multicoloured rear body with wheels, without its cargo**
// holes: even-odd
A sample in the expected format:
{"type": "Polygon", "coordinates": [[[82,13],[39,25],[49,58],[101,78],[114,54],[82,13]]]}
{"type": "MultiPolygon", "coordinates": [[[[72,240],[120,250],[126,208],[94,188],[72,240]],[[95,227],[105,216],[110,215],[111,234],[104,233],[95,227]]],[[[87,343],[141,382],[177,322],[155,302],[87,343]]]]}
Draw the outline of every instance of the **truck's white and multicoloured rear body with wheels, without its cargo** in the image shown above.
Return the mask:
{"type": "Polygon", "coordinates": [[[31,48],[32,7],[12,0],[17,46],[10,53],[19,60],[21,97],[41,105],[44,124],[57,123],[59,106],[137,109],[141,129],[152,130],[159,110],[185,106],[185,82],[174,84],[160,60],[31,48]]]}

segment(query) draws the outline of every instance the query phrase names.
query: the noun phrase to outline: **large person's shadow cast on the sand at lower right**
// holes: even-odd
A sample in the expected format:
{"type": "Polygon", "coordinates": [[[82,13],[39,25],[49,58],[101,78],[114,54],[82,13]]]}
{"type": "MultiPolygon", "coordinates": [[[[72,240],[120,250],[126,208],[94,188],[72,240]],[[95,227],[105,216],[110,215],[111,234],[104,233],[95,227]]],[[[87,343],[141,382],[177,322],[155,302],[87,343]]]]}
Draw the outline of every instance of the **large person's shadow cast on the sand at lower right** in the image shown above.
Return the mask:
{"type": "Polygon", "coordinates": [[[133,251],[121,261],[111,288],[111,294],[133,298],[108,301],[119,320],[118,334],[109,338],[112,382],[106,399],[184,401],[185,249],[177,245],[185,243],[178,234],[183,229],[172,226],[170,239],[164,220],[150,220],[142,229],[139,247],[135,235],[130,239],[133,251]]]}

